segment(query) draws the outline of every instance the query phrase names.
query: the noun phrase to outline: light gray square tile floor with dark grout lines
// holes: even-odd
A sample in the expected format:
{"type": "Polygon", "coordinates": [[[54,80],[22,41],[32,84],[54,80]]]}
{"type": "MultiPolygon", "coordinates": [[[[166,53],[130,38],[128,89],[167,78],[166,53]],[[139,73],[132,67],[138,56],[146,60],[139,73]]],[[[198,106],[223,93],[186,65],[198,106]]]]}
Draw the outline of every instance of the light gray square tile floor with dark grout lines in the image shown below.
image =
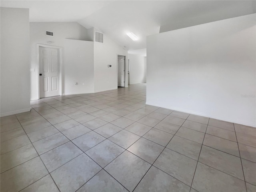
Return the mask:
{"type": "Polygon", "coordinates": [[[2,117],[1,192],[256,191],[256,128],[145,103],[135,84],[2,117]]]}

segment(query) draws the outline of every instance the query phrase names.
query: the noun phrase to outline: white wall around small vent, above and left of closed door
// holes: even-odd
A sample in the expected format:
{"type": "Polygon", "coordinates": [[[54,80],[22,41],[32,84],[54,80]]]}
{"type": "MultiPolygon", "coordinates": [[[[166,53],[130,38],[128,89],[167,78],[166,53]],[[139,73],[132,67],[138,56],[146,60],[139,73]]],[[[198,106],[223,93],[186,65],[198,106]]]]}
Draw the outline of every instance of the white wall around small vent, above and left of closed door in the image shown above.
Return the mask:
{"type": "Polygon", "coordinates": [[[88,40],[87,29],[77,22],[30,22],[30,68],[35,69],[30,72],[31,100],[36,100],[38,93],[36,44],[64,47],[65,39],[88,40]],[[54,32],[54,36],[46,36],[46,30],[54,32]]]}

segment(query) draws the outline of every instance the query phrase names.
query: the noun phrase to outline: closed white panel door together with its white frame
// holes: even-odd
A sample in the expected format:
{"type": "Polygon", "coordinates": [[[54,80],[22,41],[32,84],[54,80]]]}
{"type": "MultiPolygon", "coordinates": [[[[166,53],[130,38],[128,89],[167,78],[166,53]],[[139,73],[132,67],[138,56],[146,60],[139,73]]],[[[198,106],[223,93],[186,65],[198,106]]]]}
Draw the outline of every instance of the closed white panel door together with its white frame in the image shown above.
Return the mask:
{"type": "Polygon", "coordinates": [[[62,47],[37,44],[38,99],[62,95],[62,47]]]}

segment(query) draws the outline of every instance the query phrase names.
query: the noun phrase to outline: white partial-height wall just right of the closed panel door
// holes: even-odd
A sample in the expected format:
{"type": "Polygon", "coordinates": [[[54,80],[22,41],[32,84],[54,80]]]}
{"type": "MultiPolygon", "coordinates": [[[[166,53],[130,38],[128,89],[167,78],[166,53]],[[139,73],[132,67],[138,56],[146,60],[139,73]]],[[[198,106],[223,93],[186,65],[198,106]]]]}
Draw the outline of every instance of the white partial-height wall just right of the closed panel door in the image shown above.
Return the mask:
{"type": "Polygon", "coordinates": [[[82,94],[94,92],[94,42],[64,41],[63,93],[82,94]],[[75,83],[78,82],[78,85],[75,83]],[[84,84],[84,85],[83,85],[84,84]]]}

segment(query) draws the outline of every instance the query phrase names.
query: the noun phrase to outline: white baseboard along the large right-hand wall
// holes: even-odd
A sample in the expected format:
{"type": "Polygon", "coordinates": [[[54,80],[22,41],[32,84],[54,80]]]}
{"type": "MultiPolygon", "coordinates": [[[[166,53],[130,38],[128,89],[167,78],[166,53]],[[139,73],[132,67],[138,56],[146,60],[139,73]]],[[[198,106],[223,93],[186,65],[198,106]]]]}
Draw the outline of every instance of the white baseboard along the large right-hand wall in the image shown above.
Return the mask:
{"type": "Polygon", "coordinates": [[[160,106],[158,104],[155,104],[154,102],[148,102],[148,101],[146,101],[146,104],[157,106],[157,107],[162,107],[162,108],[166,108],[166,109],[170,109],[170,110],[176,110],[176,111],[180,111],[180,112],[184,112],[184,113],[189,113],[189,114],[193,114],[193,115],[199,115],[199,116],[209,117],[209,118],[213,118],[213,119],[218,119],[218,120],[222,120],[222,121],[226,121],[226,122],[232,122],[232,123],[236,123],[236,124],[256,127],[255,122],[248,122],[248,121],[237,120],[237,119],[232,119],[232,118],[223,118],[223,117],[220,117],[220,116],[212,116],[212,115],[209,115],[209,114],[198,113],[196,111],[184,110],[184,109],[176,108],[176,107],[160,106]]]}

